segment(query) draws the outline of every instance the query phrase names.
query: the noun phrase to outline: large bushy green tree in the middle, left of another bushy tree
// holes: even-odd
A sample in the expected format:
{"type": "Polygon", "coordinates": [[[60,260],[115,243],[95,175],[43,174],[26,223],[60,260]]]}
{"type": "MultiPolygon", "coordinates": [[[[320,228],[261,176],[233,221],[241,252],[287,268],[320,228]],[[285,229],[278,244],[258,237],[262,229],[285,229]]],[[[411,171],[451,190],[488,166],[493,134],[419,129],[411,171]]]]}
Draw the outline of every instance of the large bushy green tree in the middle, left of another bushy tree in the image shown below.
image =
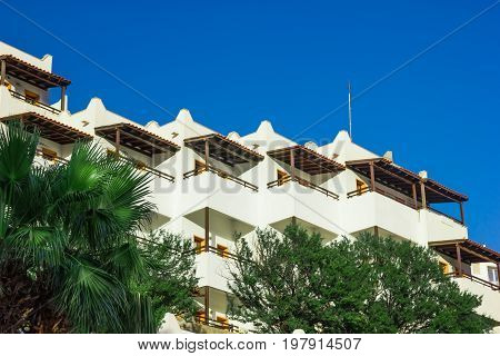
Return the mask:
{"type": "Polygon", "coordinates": [[[369,270],[358,265],[347,241],[323,246],[318,234],[289,226],[281,236],[258,230],[253,244],[237,240],[229,285],[233,317],[260,333],[353,333],[366,324],[359,313],[369,297],[369,270]]]}

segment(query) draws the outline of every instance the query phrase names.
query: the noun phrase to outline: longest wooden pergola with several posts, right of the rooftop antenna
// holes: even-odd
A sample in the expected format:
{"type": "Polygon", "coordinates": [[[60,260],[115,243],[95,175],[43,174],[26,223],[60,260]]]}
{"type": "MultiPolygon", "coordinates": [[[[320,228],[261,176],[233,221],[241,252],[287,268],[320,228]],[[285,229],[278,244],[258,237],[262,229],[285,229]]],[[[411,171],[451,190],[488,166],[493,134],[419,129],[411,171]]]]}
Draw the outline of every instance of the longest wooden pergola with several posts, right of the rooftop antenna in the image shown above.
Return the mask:
{"type": "Polygon", "coordinates": [[[457,202],[460,206],[460,221],[464,222],[463,202],[469,198],[436,180],[422,178],[418,174],[397,166],[386,158],[350,160],[346,166],[370,179],[371,191],[377,191],[376,182],[392,188],[413,199],[413,208],[429,207],[429,204],[457,202]],[[419,206],[420,204],[420,206],[419,206]]]}

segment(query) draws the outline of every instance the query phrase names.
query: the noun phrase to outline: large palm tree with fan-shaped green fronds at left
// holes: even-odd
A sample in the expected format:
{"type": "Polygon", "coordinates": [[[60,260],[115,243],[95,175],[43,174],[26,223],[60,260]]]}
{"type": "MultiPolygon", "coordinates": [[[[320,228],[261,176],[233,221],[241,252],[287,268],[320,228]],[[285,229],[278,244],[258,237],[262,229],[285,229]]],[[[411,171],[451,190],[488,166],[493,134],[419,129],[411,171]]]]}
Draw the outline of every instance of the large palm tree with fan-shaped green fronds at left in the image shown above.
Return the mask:
{"type": "Polygon", "coordinates": [[[38,142],[19,125],[0,130],[0,333],[153,333],[133,288],[150,177],[91,142],[39,165],[38,142]]]}

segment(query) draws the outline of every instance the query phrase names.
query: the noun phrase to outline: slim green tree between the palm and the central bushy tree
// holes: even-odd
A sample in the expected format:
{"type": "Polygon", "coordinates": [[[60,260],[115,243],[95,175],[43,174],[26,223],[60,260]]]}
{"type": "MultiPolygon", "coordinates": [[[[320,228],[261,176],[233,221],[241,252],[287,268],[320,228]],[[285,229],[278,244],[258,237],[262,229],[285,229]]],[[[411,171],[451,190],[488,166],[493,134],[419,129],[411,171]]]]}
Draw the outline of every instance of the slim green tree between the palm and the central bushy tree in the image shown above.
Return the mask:
{"type": "Polygon", "coordinates": [[[166,313],[189,318],[198,309],[193,295],[198,287],[196,253],[189,239],[164,230],[150,234],[140,245],[147,275],[138,291],[150,297],[157,328],[166,313]]]}

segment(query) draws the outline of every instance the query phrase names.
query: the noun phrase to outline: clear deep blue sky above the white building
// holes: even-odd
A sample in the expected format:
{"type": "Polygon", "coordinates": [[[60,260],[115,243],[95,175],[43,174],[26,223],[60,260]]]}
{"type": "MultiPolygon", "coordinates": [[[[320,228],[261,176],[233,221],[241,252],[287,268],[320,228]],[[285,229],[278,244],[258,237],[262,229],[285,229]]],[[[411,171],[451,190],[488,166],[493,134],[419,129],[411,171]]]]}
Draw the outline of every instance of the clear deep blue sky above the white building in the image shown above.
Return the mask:
{"type": "MultiPolygon", "coordinates": [[[[181,108],[222,134],[268,118],[297,140],[331,140],[342,108],[304,128],[496,0],[0,1],[0,39],[139,122],[181,108]],[[8,9],[121,78],[160,107],[8,9]],[[299,135],[299,137],[297,137],[299,135]]],[[[500,4],[353,102],[354,141],[467,194],[472,239],[500,250],[500,4]]],[[[170,113],[169,113],[170,112],[170,113]]]]}

